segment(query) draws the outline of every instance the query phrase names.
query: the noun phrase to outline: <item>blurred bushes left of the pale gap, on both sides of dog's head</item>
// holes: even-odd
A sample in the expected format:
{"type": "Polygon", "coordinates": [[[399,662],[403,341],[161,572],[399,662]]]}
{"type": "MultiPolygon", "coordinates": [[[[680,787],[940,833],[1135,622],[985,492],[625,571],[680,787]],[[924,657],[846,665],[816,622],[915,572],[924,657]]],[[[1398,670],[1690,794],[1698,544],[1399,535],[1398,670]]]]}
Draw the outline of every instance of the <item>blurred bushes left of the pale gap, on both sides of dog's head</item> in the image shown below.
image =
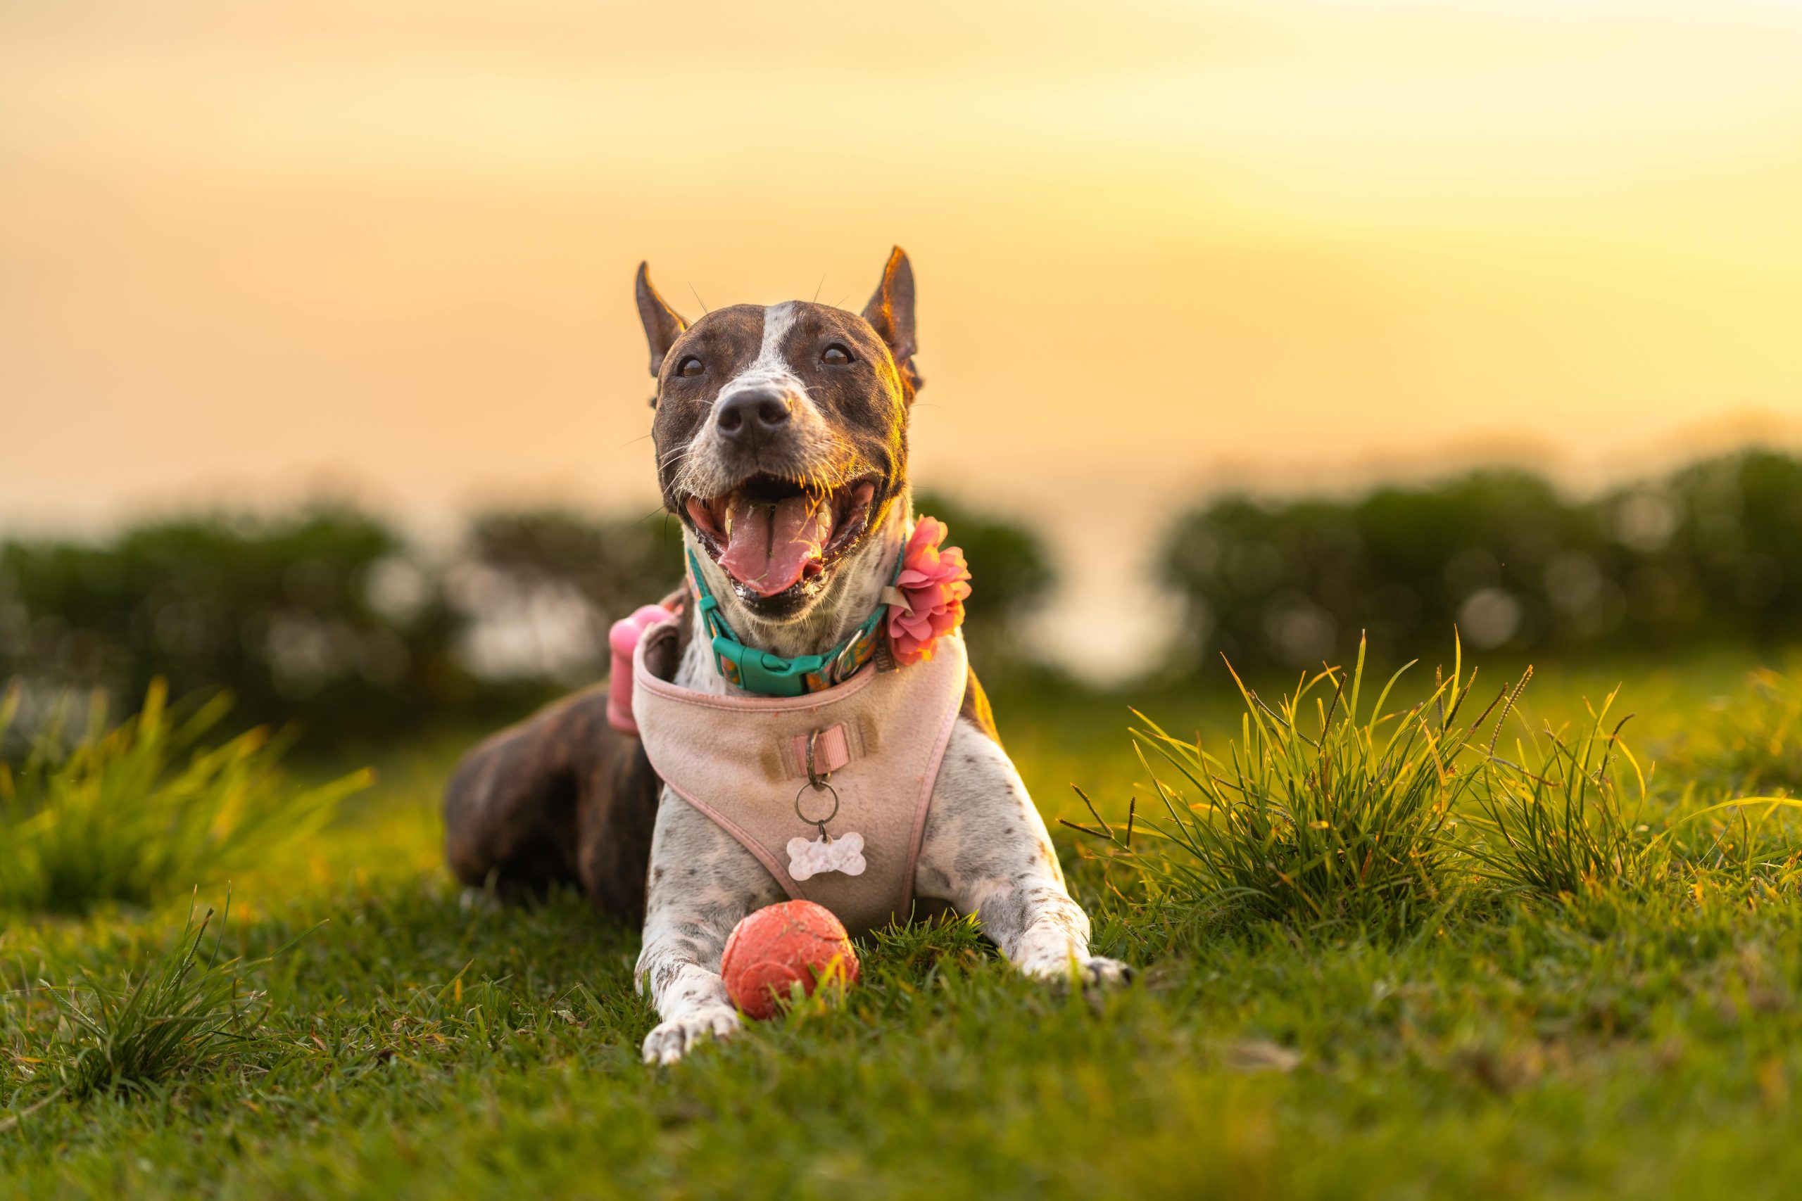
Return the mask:
{"type": "MultiPolygon", "coordinates": [[[[977,565],[978,666],[1007,672],[1015,628],[1054,583],[1020,526],[944,497],[977,565]]],[[[155,520],[96,542],[0,542],[0,684],[27,704],[105,690],[130,711],[150,681],[225,688],[234,720],[299,722],[308,744],[506,720],[600,679],[607,627],[681,580],[674,520],[571,510],[478,515],[449,553],[378,517],[321,504],[274,517],[155,520]]]]}

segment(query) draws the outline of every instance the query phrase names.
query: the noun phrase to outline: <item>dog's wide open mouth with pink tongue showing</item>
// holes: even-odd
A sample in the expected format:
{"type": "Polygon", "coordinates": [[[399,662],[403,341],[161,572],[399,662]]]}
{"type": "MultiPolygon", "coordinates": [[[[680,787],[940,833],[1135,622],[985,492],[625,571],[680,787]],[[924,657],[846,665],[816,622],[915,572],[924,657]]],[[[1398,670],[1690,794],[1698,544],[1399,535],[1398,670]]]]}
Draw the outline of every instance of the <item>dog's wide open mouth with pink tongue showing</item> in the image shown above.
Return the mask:
{"type": "Polygon", "coordinates": [[[831,492],[777,475],[753,475],[714,499],[688,497],[685,510],[706,553],[741,592],[777,596],[818,580],[870,526],[874,481],[831,492]]]}

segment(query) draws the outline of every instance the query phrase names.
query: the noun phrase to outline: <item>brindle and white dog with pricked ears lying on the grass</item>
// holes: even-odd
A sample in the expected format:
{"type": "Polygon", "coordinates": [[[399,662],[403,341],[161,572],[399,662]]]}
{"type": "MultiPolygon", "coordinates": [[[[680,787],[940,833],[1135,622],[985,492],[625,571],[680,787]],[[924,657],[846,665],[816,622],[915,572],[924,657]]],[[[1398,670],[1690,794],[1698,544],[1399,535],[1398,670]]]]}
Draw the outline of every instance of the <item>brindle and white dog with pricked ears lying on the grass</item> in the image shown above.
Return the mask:
{"type": "MultiPolygon", "coordinates": [[[[791,301],[735,304],[690,324],[658,295],[645,265],[636,299],[656,378],[658,484],[681,522],[688,600],[705,585],[737,639],[771,655],[845,643],[892,596],[885,589],[914,520],[908,414],[921,378],[906,254],[894,248],[861,313],[791,301]]],[[[640,645],[638,679],[741,697],[699,609],[685,605],[667,637],[640,645]]],[[[957,688],[917,841],[906,859],[890,859],[910,868],[910,913],[977,915],[1027,976],[1085,987],[1128,980],[1124,963],[1090,954],[1088,917],[962,663],[953,663],[957,688]]],[[[470,751],[445,790],[445,850],[467,886],[571,880],[598,908],[642,918],[634,980],[660,1017],[643,1059],[669,1064],[739,1030],[719,974],[726,938],[791,889],[778,864],[660,778],[645,744],[609,726],[605,699],[605,686],[577,693],[470,751]]],[[[796,814],[811,823],[805,787],[824,787],[811,740],[807,756],[796,814]]],[[[831,841],[824,823],[820,834],[831,841]]]]}

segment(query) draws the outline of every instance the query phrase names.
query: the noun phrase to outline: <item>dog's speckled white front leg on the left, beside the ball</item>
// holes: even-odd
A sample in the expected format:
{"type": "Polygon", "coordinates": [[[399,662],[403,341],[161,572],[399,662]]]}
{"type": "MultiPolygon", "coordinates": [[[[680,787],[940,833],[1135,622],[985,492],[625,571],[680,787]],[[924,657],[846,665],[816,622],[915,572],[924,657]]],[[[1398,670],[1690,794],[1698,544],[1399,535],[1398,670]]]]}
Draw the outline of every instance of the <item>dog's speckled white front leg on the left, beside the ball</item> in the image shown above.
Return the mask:
{"type": "Polygon", "coordinates": [[[645,1062],[672,1064],[696,1043],[739,1028],[719,956],[744,915],[784,893],[751,852],[669,789],[651,835],[651,864],[634,976],[663,1019],[645,1035],[645,1062]]]}

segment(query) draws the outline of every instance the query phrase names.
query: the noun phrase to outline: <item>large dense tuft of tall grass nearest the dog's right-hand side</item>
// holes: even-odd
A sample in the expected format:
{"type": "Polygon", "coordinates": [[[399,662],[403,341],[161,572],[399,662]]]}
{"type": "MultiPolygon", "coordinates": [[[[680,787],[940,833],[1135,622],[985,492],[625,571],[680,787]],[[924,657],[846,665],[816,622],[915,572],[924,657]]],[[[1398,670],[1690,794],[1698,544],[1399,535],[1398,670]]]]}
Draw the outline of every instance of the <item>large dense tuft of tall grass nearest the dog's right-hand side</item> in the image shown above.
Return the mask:
{"type": "MultiPolygon", "coordinates": [[[[1142,727],[1130,733],[1162,803],[1162,817],[1144,823],[1162,853],[1141,857],[1153,895],[1373,931],[1413,927],[1451,904],[1458,848],[1447,832],[1478,778],[1465,751],[1510,693],[1460,720],[1476,688],[1460,654],[1425,697],[1386,708],[1411,666],[1391,675],[1368,709],[1362,645],[1352,672],[1303,677],[1276,708],[1234,672],[1245,713],[1238,740],[1218,751],[1200,736],[1175,738],[1133,709],[1142,727]]],[[[1115,837],[1110,826],[1101,832],[1115,837]]]]}

